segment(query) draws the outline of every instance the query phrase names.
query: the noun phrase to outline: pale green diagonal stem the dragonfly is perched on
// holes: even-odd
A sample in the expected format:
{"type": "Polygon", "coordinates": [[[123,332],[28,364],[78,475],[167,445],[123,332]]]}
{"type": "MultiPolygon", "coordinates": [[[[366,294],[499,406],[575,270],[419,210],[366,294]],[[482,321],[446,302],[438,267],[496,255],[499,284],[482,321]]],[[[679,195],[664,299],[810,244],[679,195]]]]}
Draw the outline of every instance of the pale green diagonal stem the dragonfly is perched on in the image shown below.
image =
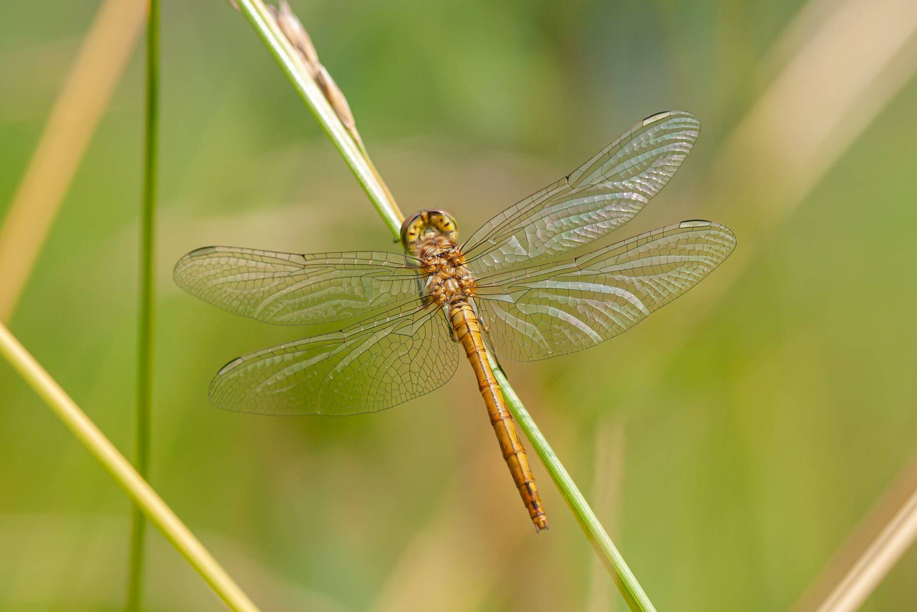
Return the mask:
{"type": "MultiPolygon", "coordinates": [[[[337,118],[331,105],[321,93],[319,87],[315,84],[309,72],[304,69],[299,54],[293,49],[290,42],[284,37],[280,29],[271,19],[271,16],[261,2],[261,0],[238,0],[238,6],[242,14],[245,15],[252,27],[258,33],[261,40],[271,51],[274,59],[280,64],[287,79],[293,84],[293,88],[303,98],[309,110],[315,115],[318,123],[323,127],[327,136],[331,138],[335,148],[347,162],[348,167],[370,196],[370,202],[382,217],[382,221],[388,226],[395,239],[399,239],[401,234],[401,221],[404,218],[403,213],[398,209],[398,205],[388,196],[388,190],[384,187],[381,180],[377,180],[378,173],[364,157],[361,149],[349,136],[346,128],[337,118]]],[[[492,364],[496,362],[492,360],[492,364]]],[[[608,573],[612,576],[615,585],[624,596],[624,601],[632,610],[655,610],[656,608],[650,603],[643,588],[636,581],[633,572],[624,563],[621,553],[614,547],[608,533],[602,527],[602,523],[592,512],[586,499],[580,493],[573,478],[570,477],[563,464],[560,463],[557,454],[547,443],[547,439],[538,429],[535,420],[525,410],[525,406],[519,396],[516,395],[513,386],[503,373],[499,366],[494,368],[500,387],[503,389],[503,396],[506,398],[509,409],[513,412],[516,421],[519,421],[525,435],[528,436],[535,452],[541,461],[545,464],[548,474],[558,486],[561,495],[567,501],[570,510],[576,517],[580,528],[586,534],[586,537],[592,544],[592,548],[602,560],[608,573]]]]}

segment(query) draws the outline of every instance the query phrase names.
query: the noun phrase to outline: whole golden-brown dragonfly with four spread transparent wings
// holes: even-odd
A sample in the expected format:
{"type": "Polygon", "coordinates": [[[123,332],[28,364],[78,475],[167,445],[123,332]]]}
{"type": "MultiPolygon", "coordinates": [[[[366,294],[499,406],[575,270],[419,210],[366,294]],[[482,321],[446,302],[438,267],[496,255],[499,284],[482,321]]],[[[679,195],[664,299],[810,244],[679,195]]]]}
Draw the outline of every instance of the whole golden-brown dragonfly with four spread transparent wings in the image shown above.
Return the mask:
{"type": "Polygon", "coordinates": [[[701,220],[580,251],[646,206],[700,127],[683,111],[647,117],[461,243],[451,214],[423,210],[404,220],[400,254],[192,251],[173,274],[192,295],[262,322],[336,322],[338,330],[233,359],[210,384],[212,403],[269,415],[377,412],[445,385],[463,351],[529,518],[536,531],[547,529],[496,359],[535,361],[601,344],[723,263],[735,235],[701,220]]]}

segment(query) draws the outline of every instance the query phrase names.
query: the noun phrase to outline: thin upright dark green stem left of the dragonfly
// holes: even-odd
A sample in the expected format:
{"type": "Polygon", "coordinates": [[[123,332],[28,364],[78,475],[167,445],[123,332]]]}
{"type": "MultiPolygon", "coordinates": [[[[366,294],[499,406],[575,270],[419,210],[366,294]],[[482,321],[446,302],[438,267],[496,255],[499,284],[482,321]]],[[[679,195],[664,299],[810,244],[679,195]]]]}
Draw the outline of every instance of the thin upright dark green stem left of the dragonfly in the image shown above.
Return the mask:
{"type": "MultiPolygon", "coordinates": [[[[134,464],[139,475],[149,480],[149,445],[152,411],[153,332],[155,287],[156,178],[159,145],[160,90],[160,1],[149,0],[147,14],[147,99],[144,133],[143,196],[140,214],[140,321],[137,348],[137,415],[134,464]]],[[[130,533],[130,573],[127,582],[127,610],[140,609],[143,597],[143,559],[146,519],[134,507],[130,533]]]]}

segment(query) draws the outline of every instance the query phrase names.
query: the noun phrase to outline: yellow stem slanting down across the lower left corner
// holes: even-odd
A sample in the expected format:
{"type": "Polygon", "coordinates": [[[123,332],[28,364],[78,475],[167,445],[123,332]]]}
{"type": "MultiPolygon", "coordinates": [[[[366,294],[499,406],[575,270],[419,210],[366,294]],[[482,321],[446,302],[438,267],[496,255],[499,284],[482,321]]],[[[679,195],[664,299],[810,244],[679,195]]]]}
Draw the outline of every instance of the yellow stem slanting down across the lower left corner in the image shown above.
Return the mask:
{"type": "Polygon", "coordinates": [[[134,500],[150,522],[162,532],[166,540],[182,554],[185,560],[191,563],[194,570],[201,574],[204,581],[214,589],[216,595],[226,602],[228,607],[243,612],[258,610],[249,597],[229,577],[229,574],[226,574],[226,570],[216,563],[204,545],[185,527],[182,520],[175,516],[171,508],[138,474],[125,456],[118,453],[115,445],[99,431],[95,423],[39,365],[35,357],[29,355],[25,347],[19,344],[16,337],[6,329],[3,323],[0,323],[0,355],[3,355],[13,369],[26,379],[28,385],[38,393],[39,397],[50,406],[50,409],[73,435],[115,478],[117,484],[134,500]]]}

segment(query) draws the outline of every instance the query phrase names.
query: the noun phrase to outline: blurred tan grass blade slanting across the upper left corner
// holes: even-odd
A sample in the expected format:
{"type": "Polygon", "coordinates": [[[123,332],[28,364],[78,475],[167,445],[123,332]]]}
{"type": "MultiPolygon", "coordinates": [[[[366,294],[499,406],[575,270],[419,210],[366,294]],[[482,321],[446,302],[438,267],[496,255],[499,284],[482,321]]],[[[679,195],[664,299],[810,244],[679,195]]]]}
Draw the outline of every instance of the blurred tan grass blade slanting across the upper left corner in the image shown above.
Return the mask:
{"type": "Polygon", "coordinates": [[[0,321],[16,309],[73,174],[121,78],[146,4],[105,0],[51,109],[25,176],[0,226],[0,321]]]}

